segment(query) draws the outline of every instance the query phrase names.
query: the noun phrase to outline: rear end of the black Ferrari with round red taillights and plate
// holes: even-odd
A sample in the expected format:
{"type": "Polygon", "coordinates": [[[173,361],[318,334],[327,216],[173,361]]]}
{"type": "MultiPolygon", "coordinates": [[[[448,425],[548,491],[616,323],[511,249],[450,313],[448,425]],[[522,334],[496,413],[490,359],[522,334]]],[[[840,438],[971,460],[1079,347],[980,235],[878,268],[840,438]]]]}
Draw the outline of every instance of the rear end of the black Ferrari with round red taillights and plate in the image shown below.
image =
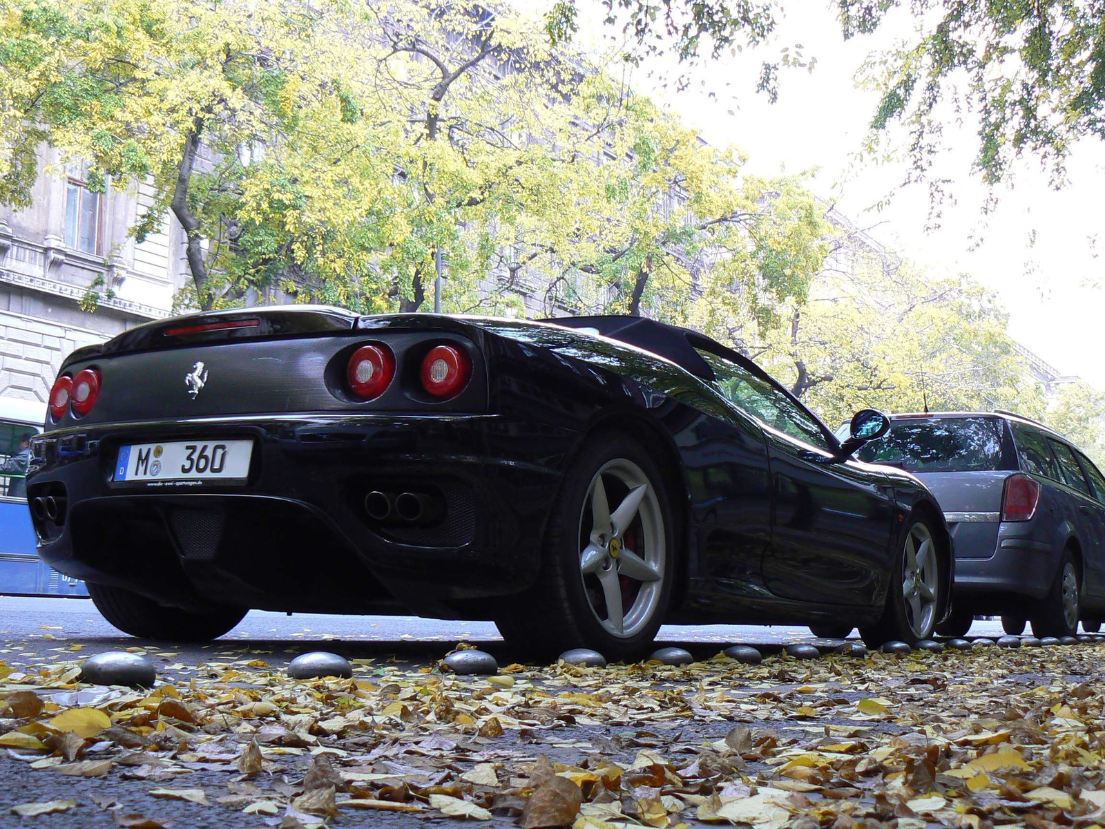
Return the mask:
{"type": "Polygon", "coordinates": [[[40,554],[186,610],[487,618],[535,579],[579,440],[549,359],[334,308],[131,329],[62,367],[28,478],[40,554]]]}

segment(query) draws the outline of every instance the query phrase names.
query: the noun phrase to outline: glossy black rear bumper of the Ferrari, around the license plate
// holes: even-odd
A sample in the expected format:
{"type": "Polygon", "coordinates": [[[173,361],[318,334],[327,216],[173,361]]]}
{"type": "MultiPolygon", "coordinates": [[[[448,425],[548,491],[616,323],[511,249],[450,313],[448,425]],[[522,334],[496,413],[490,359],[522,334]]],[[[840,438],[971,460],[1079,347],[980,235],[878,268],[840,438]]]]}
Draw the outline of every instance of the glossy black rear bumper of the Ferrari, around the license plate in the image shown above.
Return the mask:
{"type": "Polygon", "coordinates": [[[28,494],[64,496],[60,526],[35,522],[45,562],[162,604],[485,616],[484,599],[536,578],[575,441],[495,414],[106,424],[43,436],[28,494]],[[241,438],[254,441],[244,483],[113,481],[125,443],[241,438]],[[444,508],[381,523],[364,508],[373,490],[432,492],[444,508]]]}

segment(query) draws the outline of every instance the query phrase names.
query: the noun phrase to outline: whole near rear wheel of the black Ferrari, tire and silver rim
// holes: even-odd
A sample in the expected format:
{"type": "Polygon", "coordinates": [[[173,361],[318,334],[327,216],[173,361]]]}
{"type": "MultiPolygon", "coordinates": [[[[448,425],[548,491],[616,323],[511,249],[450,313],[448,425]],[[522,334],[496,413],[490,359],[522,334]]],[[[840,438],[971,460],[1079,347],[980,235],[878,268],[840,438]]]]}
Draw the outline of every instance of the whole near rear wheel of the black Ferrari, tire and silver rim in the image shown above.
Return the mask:
{"type": "Polygon", "coordinates": [[[551,659],[593,648],[611,662],[651,651],[678,571],[653,454],[615,432],[580,449],[549,513],[536,583],[495,617],[513,649],[551,659]]]}

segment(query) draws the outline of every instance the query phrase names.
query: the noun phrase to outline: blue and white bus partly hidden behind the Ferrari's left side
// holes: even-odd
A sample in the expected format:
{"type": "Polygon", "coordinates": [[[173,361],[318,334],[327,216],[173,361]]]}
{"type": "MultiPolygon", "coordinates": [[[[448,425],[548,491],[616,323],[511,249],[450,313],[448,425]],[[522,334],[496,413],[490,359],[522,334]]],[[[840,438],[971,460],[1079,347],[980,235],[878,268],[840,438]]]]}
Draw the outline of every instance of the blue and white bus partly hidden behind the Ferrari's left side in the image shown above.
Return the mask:
{"type": "Polygon", "coordinates": [[[0,594],[83,597],[83,581],[52,569],[35,552],[24,473],[28,444],[45,420],[45,403],[0,397],[0,594]]]}

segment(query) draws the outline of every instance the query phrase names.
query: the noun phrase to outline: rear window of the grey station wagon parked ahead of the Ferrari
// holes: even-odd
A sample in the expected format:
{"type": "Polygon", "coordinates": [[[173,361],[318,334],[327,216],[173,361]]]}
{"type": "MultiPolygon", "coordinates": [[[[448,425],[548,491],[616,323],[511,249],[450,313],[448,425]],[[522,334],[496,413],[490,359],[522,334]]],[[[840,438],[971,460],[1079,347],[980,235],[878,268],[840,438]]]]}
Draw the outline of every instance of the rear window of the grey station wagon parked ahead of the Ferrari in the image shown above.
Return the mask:
{"type": "Polygon", "coordinates": [[[891,421],[885,437],[856,453],[861,461],[909,472],[1012,470],[1015,464],[999,418],[917,418],[891,421]]]}

